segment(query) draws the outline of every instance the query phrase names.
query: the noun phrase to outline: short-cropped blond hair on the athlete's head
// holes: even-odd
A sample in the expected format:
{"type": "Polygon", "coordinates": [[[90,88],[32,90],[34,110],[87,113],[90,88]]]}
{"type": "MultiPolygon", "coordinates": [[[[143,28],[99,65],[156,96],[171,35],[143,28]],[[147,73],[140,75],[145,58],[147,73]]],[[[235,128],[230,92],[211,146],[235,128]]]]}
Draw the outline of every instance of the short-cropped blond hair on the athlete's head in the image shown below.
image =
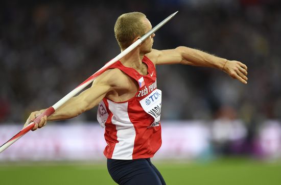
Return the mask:
{"type": "Polygon", "coordinates": [[[129,47],[135,37],[145,34],[144,18],[146,15],[140,12],[125,13],[118,17],[114,25],[114,34],[122,49],[129,47]]]}

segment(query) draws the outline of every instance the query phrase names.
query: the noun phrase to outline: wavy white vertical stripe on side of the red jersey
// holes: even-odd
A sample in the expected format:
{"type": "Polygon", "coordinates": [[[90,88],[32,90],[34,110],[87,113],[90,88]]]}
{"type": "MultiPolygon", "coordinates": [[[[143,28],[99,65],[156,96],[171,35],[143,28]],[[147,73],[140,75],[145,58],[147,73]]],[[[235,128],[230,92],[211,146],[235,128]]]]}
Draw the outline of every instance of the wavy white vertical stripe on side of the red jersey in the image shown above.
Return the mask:
{"type": "Polygon", "coordinates": [[[112,154],[115,160],[132,160],[135,142],[135,128],[129,119],[128,102],[115,103],[107,99],[108,109],[113,114],[112,124],[116,125],[117,140],[112,154]]]}

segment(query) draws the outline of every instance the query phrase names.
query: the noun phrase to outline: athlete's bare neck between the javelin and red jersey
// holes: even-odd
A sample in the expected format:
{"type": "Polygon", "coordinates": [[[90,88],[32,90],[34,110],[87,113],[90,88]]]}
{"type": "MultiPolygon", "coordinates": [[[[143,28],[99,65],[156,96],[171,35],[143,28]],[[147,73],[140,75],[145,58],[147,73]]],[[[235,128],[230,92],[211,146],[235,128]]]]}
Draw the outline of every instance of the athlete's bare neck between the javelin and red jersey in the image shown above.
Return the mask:
{"type": "Polygon", "coordinates": [[[125,57],[123,57],[120,62],[126,67],[141,70],[143,58],[144,54],[140,54],[139,49],[135,48],[131,52],[129,52],[125,57]]]}

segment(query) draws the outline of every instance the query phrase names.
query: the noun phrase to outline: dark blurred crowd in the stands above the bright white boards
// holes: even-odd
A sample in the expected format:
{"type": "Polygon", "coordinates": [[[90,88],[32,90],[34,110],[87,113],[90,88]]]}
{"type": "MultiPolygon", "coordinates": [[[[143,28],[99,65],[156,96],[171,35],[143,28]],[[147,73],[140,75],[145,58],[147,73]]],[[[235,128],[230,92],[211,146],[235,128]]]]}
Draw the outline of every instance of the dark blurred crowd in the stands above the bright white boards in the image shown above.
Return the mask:
{"type": "MultiPolygon", "coordinates": [[[[119,15],[139,11],[156,25],[155,49],[183,45],[248,66],[248,84],[218,69],[157,66],[161,119],[281,118],[281,4],[259,0],[1,1],[0,123],[48,108],[120,53],[119,15]]],[[[96,109],[76,119],[96,121],[96,109]]]]}

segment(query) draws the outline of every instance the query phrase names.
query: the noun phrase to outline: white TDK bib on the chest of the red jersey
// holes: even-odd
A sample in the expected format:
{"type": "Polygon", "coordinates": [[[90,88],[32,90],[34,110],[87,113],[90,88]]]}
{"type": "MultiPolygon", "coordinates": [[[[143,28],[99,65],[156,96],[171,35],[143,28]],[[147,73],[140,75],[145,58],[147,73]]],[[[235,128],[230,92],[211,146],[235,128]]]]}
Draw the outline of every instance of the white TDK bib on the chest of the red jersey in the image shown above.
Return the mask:
{"type": "Polygon", "coordinates": [[[149,127],[159,126],[160,124],[161,95],[161,90],[155,89],[147,97],[139,101],[144,111],[154,118],[154,122],[149,127]]]}

